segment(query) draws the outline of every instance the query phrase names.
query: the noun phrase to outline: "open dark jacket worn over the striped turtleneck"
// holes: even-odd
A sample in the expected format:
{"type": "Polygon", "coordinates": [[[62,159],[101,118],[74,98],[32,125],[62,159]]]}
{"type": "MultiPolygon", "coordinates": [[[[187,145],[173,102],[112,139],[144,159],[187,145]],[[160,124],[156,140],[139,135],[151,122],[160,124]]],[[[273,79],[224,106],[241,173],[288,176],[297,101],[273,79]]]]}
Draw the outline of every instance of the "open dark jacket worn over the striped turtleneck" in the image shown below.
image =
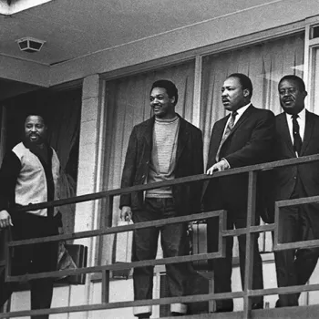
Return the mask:
{"type": "MultiPolygon", "coordinates": [[[[149,118],[135,126],[132,130],[122,174],[121,188],[142,185],[147,179],[152,150],[154,120],[154,117],[149,118]]],[[[174,171],[175,178],[202,174],[202,153],[201,129],[197,129],[185,119],[180,118],[174,171]]],[[[199,187],[198,183],[174,185],[172,192],[179,215],[200,211],[201,187],[199,187]]],[[[140,191],[122,195],[119,207],[130,206],[132,211],[137,211],[142,209],[142,204],[143,193],[140,191]]]]}

